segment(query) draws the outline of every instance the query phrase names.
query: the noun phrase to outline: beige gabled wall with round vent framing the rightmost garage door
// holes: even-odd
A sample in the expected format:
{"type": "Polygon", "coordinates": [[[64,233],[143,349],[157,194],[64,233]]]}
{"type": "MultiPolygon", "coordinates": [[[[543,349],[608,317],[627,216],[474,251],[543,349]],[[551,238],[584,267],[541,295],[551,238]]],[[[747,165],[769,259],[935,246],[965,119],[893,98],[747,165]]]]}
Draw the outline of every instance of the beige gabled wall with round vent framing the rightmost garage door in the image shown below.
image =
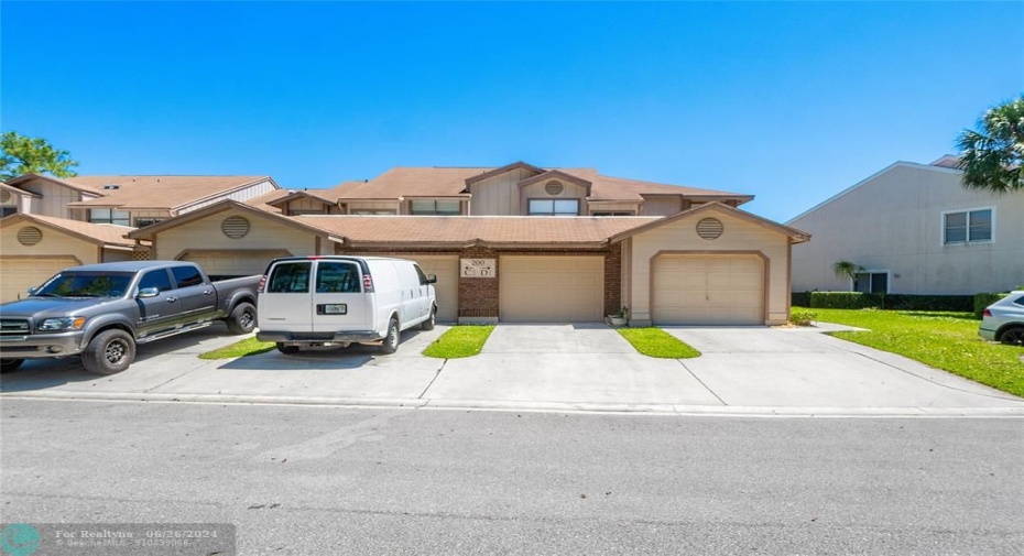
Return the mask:
{"type": "Polygon", "coordinates": [[[706,211],[687,216],[633,236],[623,250],[624,303],[630,317],[640,323],[651,320],[651,271],[658,252],[742,252],[760,253],[766,270],[765,324],[784,324],[789,316],[789,237],[734,216],[706,211]],[[701,218],[713,217],[722,222],[722,235],[715,240],[697,236],[701,218]]]}

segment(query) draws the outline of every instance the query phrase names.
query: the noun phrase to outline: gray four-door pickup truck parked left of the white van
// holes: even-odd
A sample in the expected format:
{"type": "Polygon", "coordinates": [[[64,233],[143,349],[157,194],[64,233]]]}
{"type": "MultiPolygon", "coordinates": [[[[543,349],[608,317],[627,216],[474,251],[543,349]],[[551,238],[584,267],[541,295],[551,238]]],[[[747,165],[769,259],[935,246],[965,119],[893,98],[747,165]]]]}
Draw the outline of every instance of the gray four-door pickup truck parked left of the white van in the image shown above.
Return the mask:
{"type": "Polygon", "coordinates": [[[81,356],[99,374],[121,372],[135,345],[224,320],[232,334],[255,327],[259,275],[213,282],[182,261],[73,266],[29,297],[0,305],[0,372],[25,359],[81,356]]]}

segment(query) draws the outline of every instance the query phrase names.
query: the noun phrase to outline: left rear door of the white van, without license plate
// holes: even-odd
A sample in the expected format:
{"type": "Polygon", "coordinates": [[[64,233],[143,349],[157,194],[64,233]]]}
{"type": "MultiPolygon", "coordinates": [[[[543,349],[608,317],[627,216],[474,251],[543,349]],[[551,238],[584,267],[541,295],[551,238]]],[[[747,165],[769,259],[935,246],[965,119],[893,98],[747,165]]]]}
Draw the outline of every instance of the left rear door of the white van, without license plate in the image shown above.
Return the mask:
{"type": "Polygon", "coordinates": [[[279,261],[258,297],[260,328],[275,332],[313,331],[309,294],[313,261],[279,261]]]}

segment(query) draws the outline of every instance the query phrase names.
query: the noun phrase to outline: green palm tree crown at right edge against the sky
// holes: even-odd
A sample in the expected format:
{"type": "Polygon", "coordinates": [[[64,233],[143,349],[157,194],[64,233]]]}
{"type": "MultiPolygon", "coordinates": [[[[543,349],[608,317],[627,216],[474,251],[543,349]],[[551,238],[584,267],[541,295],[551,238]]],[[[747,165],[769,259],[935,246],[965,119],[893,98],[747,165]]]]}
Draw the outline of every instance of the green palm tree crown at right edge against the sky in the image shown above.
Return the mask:
{"type": "Polygon", "coordinates": [[[978,131],[960,133],[957,148],[965,187],[992,193],[1024,190],[1024,95],[987,111],[978,131]]]}

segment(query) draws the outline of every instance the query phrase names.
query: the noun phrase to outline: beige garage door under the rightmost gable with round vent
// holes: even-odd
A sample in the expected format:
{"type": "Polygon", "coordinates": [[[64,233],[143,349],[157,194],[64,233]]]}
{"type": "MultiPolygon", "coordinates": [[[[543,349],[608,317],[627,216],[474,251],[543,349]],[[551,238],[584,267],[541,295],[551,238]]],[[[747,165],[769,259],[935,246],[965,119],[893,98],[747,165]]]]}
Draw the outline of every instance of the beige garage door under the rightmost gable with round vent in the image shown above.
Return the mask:
{"type": "Polygon", "coordinates": [[[651,297],[656,325],[763,325],[764,268],[755,255],[663,255],[651,297]]]}

